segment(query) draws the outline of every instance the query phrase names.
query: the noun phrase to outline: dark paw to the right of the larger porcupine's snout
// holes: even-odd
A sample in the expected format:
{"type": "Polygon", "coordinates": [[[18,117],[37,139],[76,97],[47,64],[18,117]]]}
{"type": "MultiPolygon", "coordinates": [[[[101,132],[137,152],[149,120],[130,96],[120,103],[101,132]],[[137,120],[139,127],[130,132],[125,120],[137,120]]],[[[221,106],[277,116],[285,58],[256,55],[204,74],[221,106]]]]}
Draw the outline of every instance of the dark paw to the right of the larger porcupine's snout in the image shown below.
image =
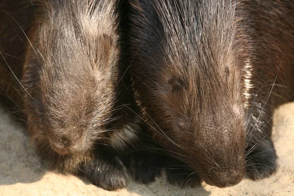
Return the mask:
{"type": "Polygon", "coordinates": [[[269,177],[277,170],[277,155],[272,141],[266,140],[246,156],[246,174],[252,180],[269,177]]]}

